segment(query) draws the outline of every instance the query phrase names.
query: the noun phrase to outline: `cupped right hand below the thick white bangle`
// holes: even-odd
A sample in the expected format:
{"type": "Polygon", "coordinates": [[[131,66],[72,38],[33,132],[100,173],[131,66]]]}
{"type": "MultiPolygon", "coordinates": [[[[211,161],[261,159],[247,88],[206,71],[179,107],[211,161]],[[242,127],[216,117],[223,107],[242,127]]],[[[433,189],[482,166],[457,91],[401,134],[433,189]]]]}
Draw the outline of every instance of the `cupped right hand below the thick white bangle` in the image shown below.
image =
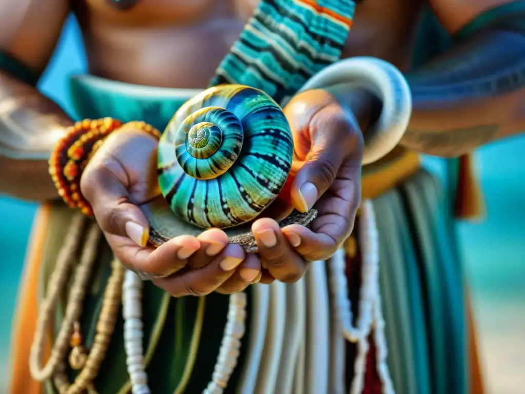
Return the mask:
{"type": "Polygon", "coordinates": [[[361,201],[363,137],[354,114],[324,90],[304,91],[284,108],[293,133],[293,205],[318,210],[310,229],[283,229],[269,218],[254,222],[262,266],[261,283],[296,282],[307,262],[325,260],[350,235],[361,201]]]}

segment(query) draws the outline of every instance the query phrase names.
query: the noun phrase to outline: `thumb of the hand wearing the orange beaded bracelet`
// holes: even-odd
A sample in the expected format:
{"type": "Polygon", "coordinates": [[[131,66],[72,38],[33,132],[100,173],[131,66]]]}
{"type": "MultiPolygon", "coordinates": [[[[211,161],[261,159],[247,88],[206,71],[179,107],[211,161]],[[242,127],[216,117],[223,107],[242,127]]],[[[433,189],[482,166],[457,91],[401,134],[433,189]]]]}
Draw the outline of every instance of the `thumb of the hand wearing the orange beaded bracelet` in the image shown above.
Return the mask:
{"type": "Polygon", "coordinates": [[[122,165],[111,159],[90,164],[82,174],[80,190],[91,204],[102,231],[127,237],[135,244],[146,246],[149,221],[140,208],[130,202],[127,177],[122,165]]]}

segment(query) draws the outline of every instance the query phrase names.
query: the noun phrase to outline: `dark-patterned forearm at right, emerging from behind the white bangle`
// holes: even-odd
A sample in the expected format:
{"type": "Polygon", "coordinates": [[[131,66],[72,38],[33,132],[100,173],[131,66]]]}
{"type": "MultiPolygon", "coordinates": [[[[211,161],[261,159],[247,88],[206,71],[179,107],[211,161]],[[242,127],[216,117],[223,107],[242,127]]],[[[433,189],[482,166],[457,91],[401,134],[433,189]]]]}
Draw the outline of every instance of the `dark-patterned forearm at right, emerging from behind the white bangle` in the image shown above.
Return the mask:
{"type": "Polygon", "coordinates": [[[525,130],[525,11],[406,75],[413,114],[401,141],[454,157],[525,130]]]}

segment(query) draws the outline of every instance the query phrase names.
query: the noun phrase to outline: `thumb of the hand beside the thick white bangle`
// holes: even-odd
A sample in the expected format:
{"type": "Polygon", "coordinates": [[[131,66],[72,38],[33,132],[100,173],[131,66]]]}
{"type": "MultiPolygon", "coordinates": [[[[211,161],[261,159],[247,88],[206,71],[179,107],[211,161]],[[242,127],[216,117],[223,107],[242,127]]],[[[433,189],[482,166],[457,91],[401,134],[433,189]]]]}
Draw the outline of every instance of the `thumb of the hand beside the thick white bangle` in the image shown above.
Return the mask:
{"type": "Polygon", "coordinates": [[[322,139],[314,143],[306,161],[292,184],[293,205],[300,212],[308,212],[335,180],[343,162],[343,152],[336,141],[322,139]]]}

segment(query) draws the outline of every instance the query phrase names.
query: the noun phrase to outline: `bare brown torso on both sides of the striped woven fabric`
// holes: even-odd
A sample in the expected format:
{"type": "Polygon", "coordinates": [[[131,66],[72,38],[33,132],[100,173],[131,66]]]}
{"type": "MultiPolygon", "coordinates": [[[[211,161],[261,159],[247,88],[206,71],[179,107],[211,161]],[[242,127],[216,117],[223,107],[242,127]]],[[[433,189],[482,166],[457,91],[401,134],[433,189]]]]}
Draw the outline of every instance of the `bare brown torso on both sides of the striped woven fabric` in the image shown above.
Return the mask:
{"type": "MultiPolygon", "coordinates": [[[[203,88],[259,0],[78,0],[92,74],[139,85],[203,88]]],[[[422,0],[364,0],[342,57],[409,65],[422,0]]]]}

